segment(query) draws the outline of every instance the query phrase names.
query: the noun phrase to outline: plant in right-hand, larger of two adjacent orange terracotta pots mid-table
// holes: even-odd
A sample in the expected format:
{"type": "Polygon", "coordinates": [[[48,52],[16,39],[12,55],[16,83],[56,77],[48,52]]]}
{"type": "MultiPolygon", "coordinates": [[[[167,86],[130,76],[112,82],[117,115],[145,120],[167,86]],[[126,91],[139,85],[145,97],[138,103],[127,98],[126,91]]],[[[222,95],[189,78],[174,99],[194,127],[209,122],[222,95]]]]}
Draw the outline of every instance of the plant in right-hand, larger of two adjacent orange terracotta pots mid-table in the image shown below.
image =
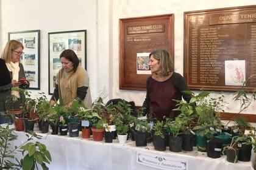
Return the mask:
{"type": "Polygon", "coordinates": [[[107,123],[107,120],[105,118],[101,118],[98,120],[98,122],[95,124],[95,126],[91,127],[91,131],[93,132],[93,140],[94,141],[102,141],[103,135],[105,131],[104,125],[107,123]]]}

